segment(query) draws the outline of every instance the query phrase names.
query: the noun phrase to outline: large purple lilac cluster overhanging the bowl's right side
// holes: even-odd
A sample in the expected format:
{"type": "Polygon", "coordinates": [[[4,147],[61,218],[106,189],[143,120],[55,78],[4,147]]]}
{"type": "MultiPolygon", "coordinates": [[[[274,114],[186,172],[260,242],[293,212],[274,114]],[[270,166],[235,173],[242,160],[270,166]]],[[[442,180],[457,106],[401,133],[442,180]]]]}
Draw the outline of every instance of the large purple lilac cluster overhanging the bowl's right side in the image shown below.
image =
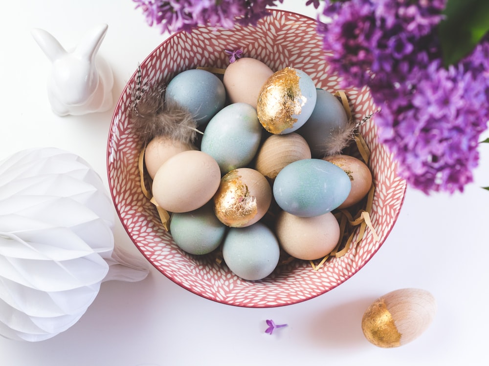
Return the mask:
{"type": "Polygon", "coordinates": [[[331,22],[318,24],[334,72],[343,86],[369,86],[381,109],[379,141],[400,175],[426,194],[472,182],[489,120],[489,39],[445,67],[436,31],[445,3],[327,0],[331,22]]]}

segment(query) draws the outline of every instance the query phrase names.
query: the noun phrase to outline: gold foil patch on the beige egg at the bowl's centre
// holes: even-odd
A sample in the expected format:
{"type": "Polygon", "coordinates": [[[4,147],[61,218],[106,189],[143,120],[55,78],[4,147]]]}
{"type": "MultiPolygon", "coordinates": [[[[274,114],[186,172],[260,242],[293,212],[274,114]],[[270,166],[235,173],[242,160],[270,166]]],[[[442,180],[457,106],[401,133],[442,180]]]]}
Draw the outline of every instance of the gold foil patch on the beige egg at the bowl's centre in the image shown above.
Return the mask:
{"type": "Polygon", "coordinates": [[[214,212],[222,224],[230,227],[241,227],[258,213],[256,198],[250,194],[237,170],[222,177],[214,195],[214,212]]]}

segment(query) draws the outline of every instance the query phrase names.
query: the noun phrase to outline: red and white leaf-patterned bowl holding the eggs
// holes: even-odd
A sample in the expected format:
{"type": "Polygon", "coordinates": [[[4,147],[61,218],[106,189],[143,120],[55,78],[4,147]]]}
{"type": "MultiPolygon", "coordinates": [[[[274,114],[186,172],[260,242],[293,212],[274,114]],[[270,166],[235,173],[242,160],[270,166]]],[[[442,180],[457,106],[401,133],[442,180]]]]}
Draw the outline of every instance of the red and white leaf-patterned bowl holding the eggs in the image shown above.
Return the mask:
{"type": "MultiPolygon", "coordinates": [[[[338,77],[329,73],[321,39],[311,18],[281,10],[259,21],[257,27],[236,26],[233,30],[200,27],[180,32],[161,43],[141,65],[144,81],[170,81],[179,72],[198,66],[225,68],[225,49],[242,49],[244,55],[265,62],[272,70],[290,66],[303,70],[316,87],[339,90],[338,77]]],[[[228,305],[274,307],[306,301],[342,284],[365,265],[387,238],[397,220],[406,184],[396,175],[395,164],[378,144],[372,120],[360,132],[371,150],[370,168],[376,191],[371,221],[378,240],[367,230],[363,239],[342,257],[330,258],[319,270],[307,261],[282,265],[257,282],[234,275],[215,258],[189,255],[178,248],[159,221],[155,206],[143,195],[139,183],[137,140],[131,133],[128,108],[137,73],[127,83],[111,122],[107,167],[111,195],[127,233],[141,253],[161,273],[178,285],[204,298],[228,305]]],[[[376,108],[366,88],[348,89],[356,120],[376,108]]]]}

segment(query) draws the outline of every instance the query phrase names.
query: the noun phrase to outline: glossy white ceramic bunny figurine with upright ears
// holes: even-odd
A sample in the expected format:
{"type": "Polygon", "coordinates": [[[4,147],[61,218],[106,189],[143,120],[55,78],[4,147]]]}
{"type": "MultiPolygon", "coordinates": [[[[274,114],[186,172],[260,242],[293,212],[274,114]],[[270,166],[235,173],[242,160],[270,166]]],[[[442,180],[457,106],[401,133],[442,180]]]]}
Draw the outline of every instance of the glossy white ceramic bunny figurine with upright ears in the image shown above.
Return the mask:
{"type": "Polygon", "coordinates": [[[47,94],[54,113],[83,115],[105,112],[112,107],[112,70],[97,55],[107,29],[107,24],[93,27],[69,52],[45,30],[32,30],[34,39],[52,63],[47,94]]]}

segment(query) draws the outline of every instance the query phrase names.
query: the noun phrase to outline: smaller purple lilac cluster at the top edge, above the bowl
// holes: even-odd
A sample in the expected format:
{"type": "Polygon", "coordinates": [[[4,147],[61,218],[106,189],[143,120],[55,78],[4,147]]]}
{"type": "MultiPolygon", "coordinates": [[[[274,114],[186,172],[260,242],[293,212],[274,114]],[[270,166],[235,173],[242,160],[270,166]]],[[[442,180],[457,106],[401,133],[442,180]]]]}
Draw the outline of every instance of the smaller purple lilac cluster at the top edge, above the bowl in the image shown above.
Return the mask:
{"type": "Polygon", "coordinates": [[[283,0],[133,0],[150,26],[161,33],[190,32],[198,25],[230,29],[235,23],[256,25],[268,15],[266,8],[283,0]]]}

